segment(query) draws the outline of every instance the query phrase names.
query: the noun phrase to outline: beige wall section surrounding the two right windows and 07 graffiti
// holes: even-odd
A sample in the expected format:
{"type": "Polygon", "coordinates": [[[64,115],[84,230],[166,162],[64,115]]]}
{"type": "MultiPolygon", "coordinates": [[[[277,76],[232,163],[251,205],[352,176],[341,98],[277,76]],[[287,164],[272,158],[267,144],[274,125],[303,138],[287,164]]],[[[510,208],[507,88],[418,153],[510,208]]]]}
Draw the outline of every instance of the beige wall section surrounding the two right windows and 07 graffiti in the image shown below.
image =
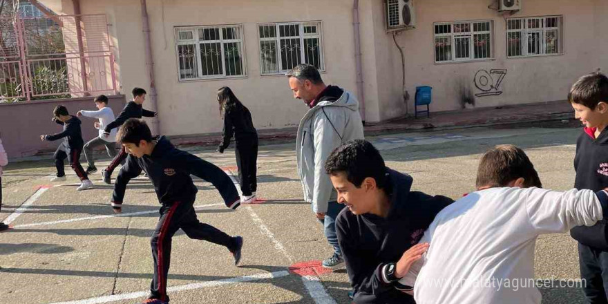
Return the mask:
{"type": "MultiPolygon", "coordinates": [[[[566,99],[569,87],[576,79],[597,68],[608,68],[605,56],[608,46],[608,2],[602,0],[524,0],[523,8],[513,17],[543,15],[564,16],[564,55],[506,58],[505,21],[495,10],[488,9],[488,0],[424,0],[416,1],[417,28],[402,32],[397,41],[406,52],[406,86],[413,103],[415,86],[433,86],[431,111],[460,108],[459,91],[471,88],[477,70],[508,70],[501,84],[502,95],[475,97],[475,106],[502,106],[566,99]],[[440,8],[440,9],[439,9],[440,8]],[[495,59],[465,63],[435,64],[433,23],[439,21],[467,21],[492,19],[494,21],[495,59]],[[603,48],[603,49],[602,49],[603,48]]],[[[386,35],[386,40],[392,39],[386,35]]],[[[392,42],[392,41],[391,41],[392,42]]],[[[390,59],[379,59],[378,70],[392,71],[392,86],[401,86],[400,57],[397,48],[390,49],[390,59]],[[398,80],[398,81],[397,81],[398,80]],[[398,82],[398,83],[397,83],[398,82]]],[[[398,98],[392,93],[392,98],[398,98]]],[[[393,108],[390,100],[381,99],[380,108],[393,108]]],[[[410,110],[411,111],[411,110],[410,110]]],[[[382,120],[400,115],[383,111],[382,120]]]]}

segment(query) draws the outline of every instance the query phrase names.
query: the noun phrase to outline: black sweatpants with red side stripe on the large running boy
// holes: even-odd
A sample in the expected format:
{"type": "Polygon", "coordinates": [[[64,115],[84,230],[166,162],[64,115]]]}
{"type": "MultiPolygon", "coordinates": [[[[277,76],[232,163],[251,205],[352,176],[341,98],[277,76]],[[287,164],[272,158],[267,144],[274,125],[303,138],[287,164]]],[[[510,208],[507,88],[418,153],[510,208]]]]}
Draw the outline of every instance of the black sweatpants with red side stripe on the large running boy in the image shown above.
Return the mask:
{"type": "MultiPolygon", "coordinates": [[[[216,227],[199,222],[191,202],[175,202],[173,205],[160,207],[160,218],[152,234],[152,259],[154,260],[154,277],[150,286],[149,298],[169,301],[167,296],[167,274],[171,263],[171,238],[178,229],[182,229],[189,238],[207,240],[236,249],[234,239],[216,227]]],[[[190,258],[196,258],[196,254],[190,258]]]]}

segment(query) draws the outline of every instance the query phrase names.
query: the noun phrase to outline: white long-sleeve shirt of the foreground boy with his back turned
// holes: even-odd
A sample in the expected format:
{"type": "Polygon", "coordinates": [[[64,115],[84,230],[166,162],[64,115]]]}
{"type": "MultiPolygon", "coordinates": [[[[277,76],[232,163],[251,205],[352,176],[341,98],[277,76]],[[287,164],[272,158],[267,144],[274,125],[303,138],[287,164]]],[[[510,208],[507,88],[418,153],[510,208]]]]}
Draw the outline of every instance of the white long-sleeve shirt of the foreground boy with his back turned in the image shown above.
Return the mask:
{"type": "Polygon", "coordinates": [[[595,224],[602,204],[608,206],[605,191],[470,193],[437,214],[419,242],[430,243],[427,253],[399,283],[414,285],[418,304],[538,304],[536,238],[595,224]]]}

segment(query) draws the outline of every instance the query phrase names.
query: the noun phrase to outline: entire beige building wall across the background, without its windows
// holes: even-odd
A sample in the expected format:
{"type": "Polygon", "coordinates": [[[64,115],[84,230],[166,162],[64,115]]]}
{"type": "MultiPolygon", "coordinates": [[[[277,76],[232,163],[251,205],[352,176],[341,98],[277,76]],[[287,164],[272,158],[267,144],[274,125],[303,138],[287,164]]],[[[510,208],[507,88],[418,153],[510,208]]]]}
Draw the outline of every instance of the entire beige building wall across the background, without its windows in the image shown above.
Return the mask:
{"type": "MultiPolygon", "coordinates": [[[[64,0],[65,2],[66,0],[64,0]]],[[[413,113],[415,87],[433,86],[431,111],[461,108],[462,88],[481,93],[473,84],[477,70],[508,70],[502,95],[475,97],[475,106],[502,106],[565,99],[569,86],[582,74],[608,68],[602,49],[608,48],[608,3],[605,0],[524,0],[513,17],[564,16],[564,54],[507,59],[505,20],[488,5],[491,0],[417,0],[417,28],[400,32],[397,42],[406,55],[406,90],[413,113]],[[491,19],[495,59],[435,64],[433,23],[491,19]]],[[[83,14],[106,13],[117,55],[120,91],[149,89],[139,1],[81,0],[83,14]]],[[[67,5],[66,5],[67,6],[67,5]]],[[[162,133],[186,135],[221,131],[216,89],[230,86],[249,107],[258,129],[296,126],[305,106],[292,97],[284,76],[260,76],[257,23],[323,21],[323,54],[328,84],[357,92],[352,37],[352,0],[149,0],[158,111],[162,133]],[[323,8],[323,9],[320,9],[323,8]],[[218,13],[221,12],[221,13],[218,13]],[[178,82],[174,28],[243,24],[247,77],[178,82]]],[[[68,12],[69,13],[69,12],[68,12]]],[[[401,89],[401,56],[384,30],[382,0],[361,0],[361,51],[365,120],[379,122],[406,113],[401,89]]],[[[144,105],[145,106],[145,105],[144,105]]],[[[150,105],[146,106],[150,107],[150,105]]]]}

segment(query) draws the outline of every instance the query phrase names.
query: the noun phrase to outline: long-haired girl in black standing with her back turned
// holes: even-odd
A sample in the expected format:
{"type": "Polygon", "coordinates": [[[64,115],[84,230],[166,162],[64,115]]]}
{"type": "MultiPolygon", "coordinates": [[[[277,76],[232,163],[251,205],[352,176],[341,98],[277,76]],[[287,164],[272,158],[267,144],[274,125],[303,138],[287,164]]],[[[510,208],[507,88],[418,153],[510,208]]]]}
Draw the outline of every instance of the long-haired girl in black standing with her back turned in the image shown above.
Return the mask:
{"type": "Polygon", "coordinates": [[[258,132],[251,121],[249,109],[240,103],[229,87],[224,86],[218,90],[218,102],[224,120],[223,140],[218,146],[218,152],[224,153],[234,134],[238,178],[243,192],[241,203],[249,204],[256,200],[258,132]]]}

